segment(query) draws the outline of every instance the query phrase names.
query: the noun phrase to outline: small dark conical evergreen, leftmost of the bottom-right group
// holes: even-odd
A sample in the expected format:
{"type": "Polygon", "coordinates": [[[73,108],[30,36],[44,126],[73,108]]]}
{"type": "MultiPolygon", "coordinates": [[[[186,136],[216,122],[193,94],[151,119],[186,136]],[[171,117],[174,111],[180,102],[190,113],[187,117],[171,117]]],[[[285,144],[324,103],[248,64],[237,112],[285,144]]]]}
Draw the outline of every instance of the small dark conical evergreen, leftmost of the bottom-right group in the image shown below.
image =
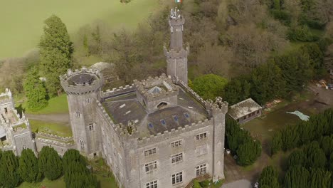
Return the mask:
{"type": "Polygon", "coordinates": [[[263,169],[259,177],[259,184],[260,187],[270,187],[270,188],[279,188],[280,184],[278,182],[279,174],[277,170],[272,167],[268,166],[263,169]]]}

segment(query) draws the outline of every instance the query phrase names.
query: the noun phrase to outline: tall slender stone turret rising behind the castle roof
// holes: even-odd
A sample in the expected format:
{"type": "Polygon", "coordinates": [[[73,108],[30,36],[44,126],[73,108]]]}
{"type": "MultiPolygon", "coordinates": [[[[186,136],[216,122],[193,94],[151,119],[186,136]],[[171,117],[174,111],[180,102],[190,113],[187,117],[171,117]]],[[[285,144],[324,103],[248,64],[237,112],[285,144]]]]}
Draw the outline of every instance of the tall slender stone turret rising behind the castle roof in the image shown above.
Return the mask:
{"type": "Polygon", "coordinates": [[[166,56],[167,75],[175,80],[176,77],[187,85],[187,56],[189,46],[183,48],[183,31],[185,19],[181,16],[179,9],[171,9],[169,16],[170,25],[170,50],[164,46],[166,56]]]}

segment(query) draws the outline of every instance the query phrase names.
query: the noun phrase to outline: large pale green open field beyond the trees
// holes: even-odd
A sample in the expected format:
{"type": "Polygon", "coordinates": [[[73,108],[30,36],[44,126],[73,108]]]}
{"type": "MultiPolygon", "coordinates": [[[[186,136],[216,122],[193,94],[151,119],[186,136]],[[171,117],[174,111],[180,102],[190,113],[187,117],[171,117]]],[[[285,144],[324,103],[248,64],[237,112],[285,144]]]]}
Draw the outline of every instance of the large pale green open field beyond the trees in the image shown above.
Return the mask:
{"type": "Polygon", "coordinates": [[[135,28],[158,5],[157,0],[32,0],[0,1],[0,59],[23,56],[36,48],[43,32],[43,21],[56,14],[68,32],[94,21],[103,21],[112,28],[135,28]]]}

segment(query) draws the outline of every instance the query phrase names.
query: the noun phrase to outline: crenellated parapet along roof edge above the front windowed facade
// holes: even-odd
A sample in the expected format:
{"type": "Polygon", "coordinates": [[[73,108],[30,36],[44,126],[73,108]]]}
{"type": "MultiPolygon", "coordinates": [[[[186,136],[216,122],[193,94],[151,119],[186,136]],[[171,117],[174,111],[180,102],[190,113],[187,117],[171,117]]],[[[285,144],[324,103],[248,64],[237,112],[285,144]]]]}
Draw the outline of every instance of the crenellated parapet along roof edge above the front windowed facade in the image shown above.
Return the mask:
{"type": "Polygon", "coordinates": [[[211,120],[203,120],[199,122],[194,122],[191,125],[184,125],[184,127],[178,127],[177,129],[171,129],[170,131],[159,132],[157,135],[150,135],[149,137],[139,138],[139,145],[149,145],[156,142],[161,142],[161,140],[167,140],[171,137],[176,137],[185,132],[191,132],[192,130],[198,130],[203,127],[211,126],[213,123],[211,120]]]}

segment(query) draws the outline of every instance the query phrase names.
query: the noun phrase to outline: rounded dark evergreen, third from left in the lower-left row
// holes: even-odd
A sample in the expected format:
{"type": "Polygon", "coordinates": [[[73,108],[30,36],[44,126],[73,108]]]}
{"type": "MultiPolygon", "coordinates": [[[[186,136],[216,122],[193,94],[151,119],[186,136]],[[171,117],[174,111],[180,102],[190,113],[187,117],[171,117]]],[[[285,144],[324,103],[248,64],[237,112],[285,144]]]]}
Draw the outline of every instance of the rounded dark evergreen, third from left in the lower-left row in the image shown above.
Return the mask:
{"type": "Polygon", "coordinates": [[[40,172],[50,180],[57,179],[63,172],[63,163],[53,147],[42,148],[39,153],[38,167],[40,172]]]}

